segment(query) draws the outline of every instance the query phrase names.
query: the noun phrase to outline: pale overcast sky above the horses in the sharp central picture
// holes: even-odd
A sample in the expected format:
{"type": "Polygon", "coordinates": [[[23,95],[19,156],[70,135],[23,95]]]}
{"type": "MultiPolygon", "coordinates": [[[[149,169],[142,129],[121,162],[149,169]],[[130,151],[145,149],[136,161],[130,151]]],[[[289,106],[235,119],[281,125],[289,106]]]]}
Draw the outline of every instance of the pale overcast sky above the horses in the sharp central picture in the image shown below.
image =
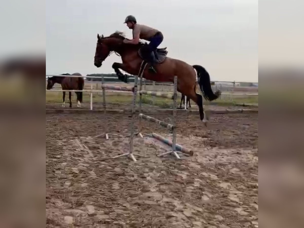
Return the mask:
{"type": "Polygon", "coordinates": [[[97,33],[131,30],[129,14],[161,30],[168,56],[207,69],[212,80],[258,81],[257,0],[52,0],[46,2],[46,72],[110,73],[94,66],[97,33]]]}

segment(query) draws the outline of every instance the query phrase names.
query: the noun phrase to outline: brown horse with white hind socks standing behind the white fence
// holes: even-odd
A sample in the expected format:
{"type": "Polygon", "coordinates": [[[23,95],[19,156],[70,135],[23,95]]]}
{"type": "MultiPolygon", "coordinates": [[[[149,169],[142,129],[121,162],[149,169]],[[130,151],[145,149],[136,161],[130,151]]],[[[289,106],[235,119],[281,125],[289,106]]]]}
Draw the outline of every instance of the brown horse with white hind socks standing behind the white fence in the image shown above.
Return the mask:
{"type": "MultiPolygon", "coordinates": [[[[71,75],[71,74],[61,74],[61,75],[71,75]]],[[[79,75],[80,73],[74,73],[72,75],[79,75]]],[[[53,76],[47,79],[47,89],[51,89],[55,83],[59,83],[61,85],[61,88],[63,90],[83,90],[85,80],[82,77],[59,77],[59,76],[53,76]]],[[[77,95],[77,107],[81,107],[82,102],[82,92],[75,92],[77,95]]],[[[65,107],[65,91],[62,92],[62,107],[65,107]]],[[[69,92],[69,100],[70,100],[70,108],[72,107],[72,101],[71,101],[71,92],[69,92]]]]}

